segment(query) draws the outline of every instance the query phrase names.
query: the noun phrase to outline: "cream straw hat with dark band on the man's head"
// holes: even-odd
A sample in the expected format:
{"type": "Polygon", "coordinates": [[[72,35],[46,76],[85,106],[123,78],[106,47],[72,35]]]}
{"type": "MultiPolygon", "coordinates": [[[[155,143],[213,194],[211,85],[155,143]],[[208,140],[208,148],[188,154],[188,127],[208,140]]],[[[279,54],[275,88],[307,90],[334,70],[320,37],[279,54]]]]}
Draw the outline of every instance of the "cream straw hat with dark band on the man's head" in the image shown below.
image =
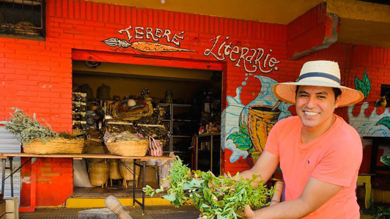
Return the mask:
{"type": "Polygon", "coordinates": [[[297,85],[339,88],[341,90],[339,107],[353,105],[364,98],[362,92],[341,86],[340,82],[337,62],[310,61],[303,64],[297,82],[277,83],[273,86],[273,93],[280,100],[295,104],[297,85]]]}

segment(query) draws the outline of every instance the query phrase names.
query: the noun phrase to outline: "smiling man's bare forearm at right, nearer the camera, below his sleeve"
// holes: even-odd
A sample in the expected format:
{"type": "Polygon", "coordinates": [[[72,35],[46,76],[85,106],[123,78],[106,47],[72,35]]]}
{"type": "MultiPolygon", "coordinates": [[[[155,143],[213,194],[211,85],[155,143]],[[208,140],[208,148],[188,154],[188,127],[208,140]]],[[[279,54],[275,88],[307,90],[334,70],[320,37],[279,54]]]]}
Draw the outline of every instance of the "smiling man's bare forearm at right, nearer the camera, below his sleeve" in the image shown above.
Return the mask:
{"type": "Polygon", "coordinates": [[[299,198],[283,201],[254,212],[247,206],[244,213],[247,213],[247,219],[302,218],[317,210],[321,205],[335,196],[342,188],[343,186],[325,183],[311,177],[299,198]]]}

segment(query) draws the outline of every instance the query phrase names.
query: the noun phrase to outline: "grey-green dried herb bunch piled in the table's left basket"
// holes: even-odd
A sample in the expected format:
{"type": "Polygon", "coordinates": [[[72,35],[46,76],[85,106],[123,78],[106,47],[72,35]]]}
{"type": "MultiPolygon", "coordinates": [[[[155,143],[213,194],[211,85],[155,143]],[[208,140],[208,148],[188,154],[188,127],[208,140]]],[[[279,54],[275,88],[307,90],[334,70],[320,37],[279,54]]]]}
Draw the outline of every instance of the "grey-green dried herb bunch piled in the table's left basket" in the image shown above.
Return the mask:
{"type": "Polygon", "coordinates": [[[11,114],[9,122],[5,124],[5,129],[15,135],[15,138],[23,144],[28,144],[35,140],[44,140],[46,142],[56,139],[76,139],[77,137],[66,132],[54,132],[50,125],[46,123],[47,127],[42,126],[37,119],[27,115],[18,108],[11,108],[15,110],[11,114]]]}

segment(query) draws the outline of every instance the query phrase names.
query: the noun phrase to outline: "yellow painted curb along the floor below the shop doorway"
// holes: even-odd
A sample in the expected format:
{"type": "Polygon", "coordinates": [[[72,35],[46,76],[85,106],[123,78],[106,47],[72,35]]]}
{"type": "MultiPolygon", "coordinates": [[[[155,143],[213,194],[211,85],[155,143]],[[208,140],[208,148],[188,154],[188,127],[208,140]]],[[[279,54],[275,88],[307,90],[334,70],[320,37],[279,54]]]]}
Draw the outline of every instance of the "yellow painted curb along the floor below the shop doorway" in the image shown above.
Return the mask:
{"type": "MultiPolygon", "coordinates": [[[[118,199],[123,206],[132,206],[132,198],[119,198],[118,199]]],[[[142,201],[142,199],[138,199],[142,201]]],[[[145,198],[145,205],[169,205],[169,201],[161,198],[145,198]]],[[[136,203],[136,206],[138,204],[136,203]]],[[[106,207],[104,204],[104,198],[69,198],[66,200],[65,207],[67,208],[101,208],[106,207]]]]}

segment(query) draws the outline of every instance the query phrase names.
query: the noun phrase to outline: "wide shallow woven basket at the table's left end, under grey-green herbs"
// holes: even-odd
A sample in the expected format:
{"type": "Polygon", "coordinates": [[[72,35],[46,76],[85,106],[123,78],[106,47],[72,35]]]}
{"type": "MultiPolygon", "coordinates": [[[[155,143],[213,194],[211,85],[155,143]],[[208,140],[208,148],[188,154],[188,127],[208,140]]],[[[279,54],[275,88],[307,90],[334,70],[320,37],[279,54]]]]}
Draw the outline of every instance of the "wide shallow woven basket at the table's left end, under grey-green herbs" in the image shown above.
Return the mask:
{"type": "Polygon", "coordinates": [[[84,139],[37,140],[23,145],[23,151],[29,154],[81,154],[83,144],[84,139]]]}

